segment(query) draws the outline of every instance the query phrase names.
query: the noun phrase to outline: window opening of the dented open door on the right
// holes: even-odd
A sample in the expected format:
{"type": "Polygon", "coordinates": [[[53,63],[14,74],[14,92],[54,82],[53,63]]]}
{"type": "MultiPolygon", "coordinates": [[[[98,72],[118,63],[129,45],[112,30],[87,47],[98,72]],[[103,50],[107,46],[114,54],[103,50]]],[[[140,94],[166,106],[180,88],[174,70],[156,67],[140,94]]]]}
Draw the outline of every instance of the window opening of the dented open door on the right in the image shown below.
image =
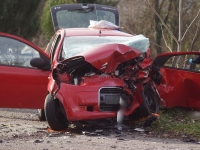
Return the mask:
{"type": "Polygon", "coordinates": [[[197,58],[198,56],[194,54],[172,56],[166,61],[164,67],[200,72],[200,64],[191,64],[189,62],[190,59],[197,58]]]}

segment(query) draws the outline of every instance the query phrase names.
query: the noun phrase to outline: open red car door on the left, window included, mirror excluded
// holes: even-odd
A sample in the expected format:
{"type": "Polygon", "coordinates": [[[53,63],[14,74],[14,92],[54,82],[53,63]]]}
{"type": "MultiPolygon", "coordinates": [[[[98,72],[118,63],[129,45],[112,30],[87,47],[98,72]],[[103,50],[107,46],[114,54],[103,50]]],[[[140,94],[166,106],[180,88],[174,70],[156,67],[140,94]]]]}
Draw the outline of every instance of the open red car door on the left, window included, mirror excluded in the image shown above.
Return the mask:
{"type": "Polygon", "coordinates": [[[0,107],[44,108],[50,60],[32,43],[0,33],[0,107]],[[30,65],[33,58],[45,61],[43,68],[30,65]]]}

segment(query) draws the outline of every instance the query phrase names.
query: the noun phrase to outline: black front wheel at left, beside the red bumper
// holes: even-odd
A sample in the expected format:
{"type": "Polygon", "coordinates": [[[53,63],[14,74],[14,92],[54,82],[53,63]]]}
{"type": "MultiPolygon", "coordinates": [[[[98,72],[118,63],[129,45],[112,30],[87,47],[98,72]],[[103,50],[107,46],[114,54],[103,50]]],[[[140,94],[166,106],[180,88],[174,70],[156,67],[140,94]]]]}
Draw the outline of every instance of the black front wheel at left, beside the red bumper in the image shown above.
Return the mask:
{"type": "Polygon", "coordinates": [[[52,130],[59,131],[68,127],[69,122],[62,103],[58,99],[53,99],[50,94],[45,99],[45,115],[52,130]]]}

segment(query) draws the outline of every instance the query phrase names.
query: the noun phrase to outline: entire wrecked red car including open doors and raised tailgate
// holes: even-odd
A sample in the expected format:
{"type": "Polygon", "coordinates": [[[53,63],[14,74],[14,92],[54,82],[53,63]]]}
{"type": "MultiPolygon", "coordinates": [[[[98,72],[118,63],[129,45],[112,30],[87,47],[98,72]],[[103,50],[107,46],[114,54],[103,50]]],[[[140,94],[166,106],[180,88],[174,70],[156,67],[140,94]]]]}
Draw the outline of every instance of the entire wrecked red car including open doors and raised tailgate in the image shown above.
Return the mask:
{"type": "Polygon", "coordinates": [[[180,95],[172,89],[179,90],[183,80],[175,84],[170,75],[176,70],[180,77],[182,72],[190,77],[186,84],[190,85],[197,72],[165,67],[171,63],[167,61],[171,53],[157,57],[152,68],[148,39],[143,36],[86,28],[91,19],[118,25],[116,8],[71,4],[54,6],[51,13],[56,33],[46,53],[19,37],[0,33],[0,107],[39,109],[40,119],[44,109],[50,127],[62,130],[71,121],[145,117],[158,112],[159,104],[192,106],[187,105],[191,99],[183,96],[185,101],[175,102],[180,95]]]}

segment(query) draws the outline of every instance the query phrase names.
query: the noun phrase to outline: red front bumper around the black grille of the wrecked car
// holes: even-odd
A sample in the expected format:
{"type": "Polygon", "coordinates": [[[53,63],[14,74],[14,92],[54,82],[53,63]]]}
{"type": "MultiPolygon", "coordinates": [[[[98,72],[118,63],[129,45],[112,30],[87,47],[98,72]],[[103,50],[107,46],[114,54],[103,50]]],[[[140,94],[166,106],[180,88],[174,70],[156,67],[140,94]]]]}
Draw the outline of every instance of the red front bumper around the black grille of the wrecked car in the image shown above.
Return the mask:
{"type": "MultiPolygon", "coordinates": [[[[61,100],[65,110],[67,111],[67,117],[70,121],[77,120],[89,120],[100,118],[112,118],[116,117],[116,111],[102,112],[98,106],[98,90],[102,87],[108,86],[124,86],[119,79],[99,79],[99,81],[90,81],[88,84],[76,86],[69,84],[61,84],[60,90],[56,94],[56,97],[61,100]],[[87,111],[85,108],[88,106],[93,107],[93,111],[87,111]]],[[[134,111],[139,103],[134,101],[133,108],[129,115],[134,111]]]]}

